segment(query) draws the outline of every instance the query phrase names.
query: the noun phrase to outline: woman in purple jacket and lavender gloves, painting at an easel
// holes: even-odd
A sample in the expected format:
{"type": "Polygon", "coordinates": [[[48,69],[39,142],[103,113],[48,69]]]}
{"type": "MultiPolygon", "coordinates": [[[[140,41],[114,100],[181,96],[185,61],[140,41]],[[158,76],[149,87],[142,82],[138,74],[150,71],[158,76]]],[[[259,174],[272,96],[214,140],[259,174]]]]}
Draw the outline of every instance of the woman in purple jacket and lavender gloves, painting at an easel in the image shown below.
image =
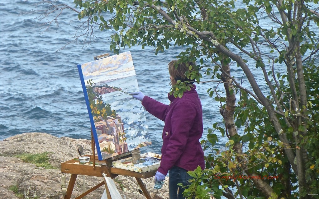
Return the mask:
{"type": "Polygon", "coordinates": [[[189,184],[191,177],[188,171],[194,171],[198,166],[205,168],[204,152],[199,139],[203,134],[202,104],[198,97],[194,80],[188,79],[185,73],[189,65],[195,63],[180,63],[173,60],[168,64],[171,85],[178,80],[190,84],[190,90],[183,93],[182,98],[175,98],[168,94],[170,104],[160,103],[142,92],[131,95],[140,100],[149,113],[165,122],[163,129],[162,159],[160,167],[155,174],[155,182],[165,180],[169,172],[169,198],[182,199],[184,189],[178,186],[189,184]],[[176,67],[177,66],[177,67],[176,67]]]}

